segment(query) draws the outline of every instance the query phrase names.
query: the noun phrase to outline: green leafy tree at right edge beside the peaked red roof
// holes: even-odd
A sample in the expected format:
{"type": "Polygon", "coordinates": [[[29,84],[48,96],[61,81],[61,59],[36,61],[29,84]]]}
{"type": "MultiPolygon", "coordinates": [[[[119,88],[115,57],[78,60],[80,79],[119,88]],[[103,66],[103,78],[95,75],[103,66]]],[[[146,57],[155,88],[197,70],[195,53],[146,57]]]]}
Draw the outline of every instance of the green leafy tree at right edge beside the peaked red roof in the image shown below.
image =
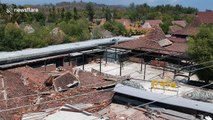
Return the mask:
{"type": "MultiPolygon", "coordinates": [[[[194,58],[197,63],[213,60],[213,25],[202,26],[200,32],[190,38],[188,54],[194,58]]],[[[212,80],[213,68],[198,71],[198,76],[206,82],[212,80]]]]}

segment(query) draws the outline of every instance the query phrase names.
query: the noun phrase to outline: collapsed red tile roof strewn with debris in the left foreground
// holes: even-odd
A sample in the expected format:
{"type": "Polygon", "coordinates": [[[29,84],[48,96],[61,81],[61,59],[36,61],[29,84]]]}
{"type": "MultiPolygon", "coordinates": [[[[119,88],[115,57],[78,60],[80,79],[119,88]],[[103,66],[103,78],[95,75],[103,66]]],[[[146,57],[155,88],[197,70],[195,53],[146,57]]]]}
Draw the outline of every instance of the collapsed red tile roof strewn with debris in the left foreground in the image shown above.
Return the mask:
{"type": "MultiPolygon", "coordinates": [[[[54,69],[51,71],[51,69],[48,72],[40,73],[38,69],[30,67],[0,71],[2,76],[0,87],[3,93],[0,94],[0,115],[5,119],[19,119],[23,113],[55,108],[65,103],[92,104],[93,106],[87,109],[87,111],[95,112],[103,109],[111,102],[114,94],[112,91],[97,89],[103,89],[105,86],[114,86],[114,81],[106,81],[101,76],[95,76],[82,70],[75,70],[73,71],[74,73],[70,73],[69,69],[68,72],[65,72],[67,69],[62,69],[62,71],[54,69]],[[69,73],[69,76],[72,75],[78,78],[80,85],[71,87],[64,92],[57,92],[53,89],[53,86],[46,86],[44,84],[44,78],[50,76],[50,73],[59,73],[59,78],[62,80],[59,83],[62,82],[62,85],[70,84],[67,81],[63,82],[63,80],[67,80],[66,78],[69,73]],[[26,77],[28,79],[24,79],[26,77]],[[34,84],[38,83],[43,85],[45,91],[40,91],[40,87],[34,87],[34,84]],[[5,101],[7,101],[7,104],[5,101]]],[[[59,78],[56,79],[59,80],[59,78]]]]}

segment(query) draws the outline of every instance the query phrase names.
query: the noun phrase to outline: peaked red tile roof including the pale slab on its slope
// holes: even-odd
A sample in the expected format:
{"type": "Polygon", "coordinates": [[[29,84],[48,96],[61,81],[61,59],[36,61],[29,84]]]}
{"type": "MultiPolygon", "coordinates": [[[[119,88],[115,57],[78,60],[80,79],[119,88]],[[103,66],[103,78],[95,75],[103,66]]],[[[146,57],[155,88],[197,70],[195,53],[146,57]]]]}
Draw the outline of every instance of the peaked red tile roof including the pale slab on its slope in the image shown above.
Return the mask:
{"type": "Polygon", "coordinates": [[[159,26],[155,26],[145,37],[113,45],[113,47],[133,51],[152,52],[160,55],[175,55],[174,53],[185,53],[187,43],[183,38],[166,37],[162,29],[159,26]]]}

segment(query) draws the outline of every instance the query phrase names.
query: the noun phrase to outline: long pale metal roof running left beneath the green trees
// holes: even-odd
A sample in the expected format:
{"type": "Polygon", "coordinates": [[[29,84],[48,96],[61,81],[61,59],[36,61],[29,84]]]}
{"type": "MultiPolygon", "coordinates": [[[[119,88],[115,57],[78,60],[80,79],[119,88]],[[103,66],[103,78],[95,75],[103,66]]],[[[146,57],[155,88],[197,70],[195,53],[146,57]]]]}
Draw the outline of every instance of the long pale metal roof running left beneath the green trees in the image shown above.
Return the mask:
{"type": "Polygon", "coordinates": [[[68,44],[52,45],[44,48],[25,49],[14,52],[0,52],[0,62],[12,59],[22,59],[28,57],[46,56],[48,54],[57,54],[62,52],[68,52],[76,49],[91,48],[101,46],[105,44],[120,43],[129,40],[134,40],[134,37],[113,37],[105,39],[95,39],[83,42],[75,42],[68,44]]]}

